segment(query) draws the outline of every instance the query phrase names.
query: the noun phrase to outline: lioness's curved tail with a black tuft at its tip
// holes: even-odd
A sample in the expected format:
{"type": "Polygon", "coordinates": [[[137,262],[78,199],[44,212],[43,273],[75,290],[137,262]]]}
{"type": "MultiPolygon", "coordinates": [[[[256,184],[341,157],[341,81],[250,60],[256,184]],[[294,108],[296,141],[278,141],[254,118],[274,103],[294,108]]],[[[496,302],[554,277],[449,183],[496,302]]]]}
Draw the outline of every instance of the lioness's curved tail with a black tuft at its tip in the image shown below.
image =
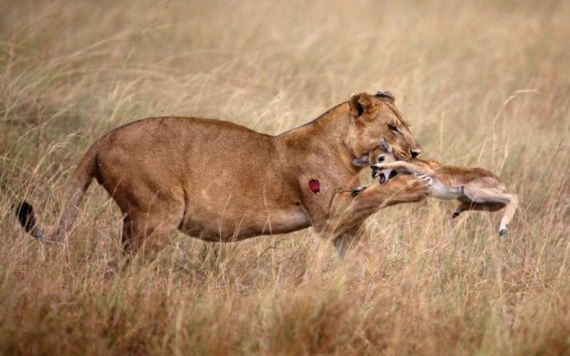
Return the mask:
{"type": "Polygon", "coordinates": [[[77,215],[78,206],[81,199],[85,195],[93,177],[97,174],[97,154],[100,147],[100,141],[95,142],[87,152],[81,157],[78,166],[71,176],[71,182],[66,194],[66,200],[61,211],[61,219],[55,229],[51,229],[48,233],[44,232],[41,226],[38,226],[33,207],[27,201],[21,201],[16,206],[16,215],[24,230],[36,239],[43,241],[60,241],[65,236],[66,231],[71,228],[73,219],[77,215]]]}

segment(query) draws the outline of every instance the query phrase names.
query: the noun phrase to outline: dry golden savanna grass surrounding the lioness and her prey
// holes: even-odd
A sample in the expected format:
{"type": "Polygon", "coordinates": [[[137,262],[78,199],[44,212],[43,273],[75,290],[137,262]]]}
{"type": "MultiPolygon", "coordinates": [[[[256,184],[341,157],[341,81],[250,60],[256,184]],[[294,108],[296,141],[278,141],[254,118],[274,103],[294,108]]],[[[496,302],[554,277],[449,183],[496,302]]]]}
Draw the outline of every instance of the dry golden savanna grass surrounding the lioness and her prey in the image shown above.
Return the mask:
{"type": "MultiPolygon", "coordinates": [[[[0,1],[0,354],[570,353],[567,1],[0,1]],[[311,229],[210,244],[174,234],[121,256],[120,214],[93,184],[65,244],[68,173],[113,127],[219,117],[276,134],[353,92],[390,90],[424,157],[496,172],[501,214],[427,199],[369,219],[371,261],[331,247],[304,282],[311,229]]],[[[368,177],[368,172],[366,172],[368,177]]]]}

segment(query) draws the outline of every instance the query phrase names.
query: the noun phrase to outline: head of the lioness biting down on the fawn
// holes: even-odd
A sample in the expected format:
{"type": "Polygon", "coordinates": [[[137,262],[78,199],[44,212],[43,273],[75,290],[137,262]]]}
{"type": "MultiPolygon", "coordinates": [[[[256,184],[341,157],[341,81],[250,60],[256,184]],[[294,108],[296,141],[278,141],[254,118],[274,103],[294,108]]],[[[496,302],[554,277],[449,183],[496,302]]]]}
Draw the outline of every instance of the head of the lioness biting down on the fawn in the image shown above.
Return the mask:
{"type": "Polygon", "coordinates": [[[420,154],[420,145],[410,132],[410,125],[396,108],[392,94],[380,91],[352,94],[348,104],[352,124],[345,140],[353,148],[355,157],[361,157],[378,147],[385,139],[396,159],[408,160],[420,154]]]}

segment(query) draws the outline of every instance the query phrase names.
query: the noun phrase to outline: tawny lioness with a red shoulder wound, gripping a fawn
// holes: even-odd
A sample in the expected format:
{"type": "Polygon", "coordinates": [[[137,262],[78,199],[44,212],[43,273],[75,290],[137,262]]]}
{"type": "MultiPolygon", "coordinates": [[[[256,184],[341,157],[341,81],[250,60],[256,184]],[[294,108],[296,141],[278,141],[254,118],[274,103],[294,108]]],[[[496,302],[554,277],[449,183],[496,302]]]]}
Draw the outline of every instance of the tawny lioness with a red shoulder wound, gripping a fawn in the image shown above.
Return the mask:
{"type": "Polygon", "coordinates": [[[17,213],[37,239],[59,241],[95,178],[123,212],[126,251],[158,251],[175,229],[237,241],[312,225],[319,233],[334,226],[327,233],[343,254],[374,211],[419,201],[429,190],[427,182],[401,178],[353,199],[350,187],[360,182],[361,168],[351,161],[373,150],[379,137],[398,159],[420,153],[388,92],[353,94],[277,136],[220,120],[147,118],[108,132],[87,150],[56,227],[43,231],[25,201],[17,213]]]}

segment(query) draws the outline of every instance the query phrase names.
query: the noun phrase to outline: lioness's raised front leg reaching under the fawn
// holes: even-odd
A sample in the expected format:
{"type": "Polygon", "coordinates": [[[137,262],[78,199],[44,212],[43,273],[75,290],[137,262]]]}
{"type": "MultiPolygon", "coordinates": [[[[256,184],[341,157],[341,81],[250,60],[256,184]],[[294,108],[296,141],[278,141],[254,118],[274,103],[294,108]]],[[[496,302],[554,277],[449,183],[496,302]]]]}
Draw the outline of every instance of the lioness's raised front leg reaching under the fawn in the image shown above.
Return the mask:
{"type": "Polygon", "coordinates": [[[338,239],[347,231],[360,226],[379,209],[424,199],[430,192],[431,184],[432,179],[427,176],[423,179],[398,176],[386,184],[368,187],[357,197],[351,192],[338,193],[333,197],[326,221],[314,226],[319,234],[328,236],[328,239],[338,239]]]}

